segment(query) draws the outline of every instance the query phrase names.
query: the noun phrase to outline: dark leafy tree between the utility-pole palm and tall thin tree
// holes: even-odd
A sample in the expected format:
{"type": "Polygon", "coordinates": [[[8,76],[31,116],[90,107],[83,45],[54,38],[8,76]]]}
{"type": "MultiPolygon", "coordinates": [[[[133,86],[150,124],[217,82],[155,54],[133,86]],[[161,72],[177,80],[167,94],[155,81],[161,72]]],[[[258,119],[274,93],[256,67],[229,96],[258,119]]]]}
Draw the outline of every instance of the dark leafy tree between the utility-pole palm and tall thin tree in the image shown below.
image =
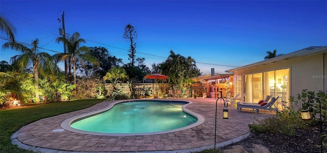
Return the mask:
{"type": "Polygon", "coordinates": [[[86,75],[97,74],[103,78],[110,68],[123,64],[122,59],[111,56],[105,47],[89,47],[89,49],[90,54],[99,59],[100,67],[95,66],[92,63],[85,62],[86,75]]]}

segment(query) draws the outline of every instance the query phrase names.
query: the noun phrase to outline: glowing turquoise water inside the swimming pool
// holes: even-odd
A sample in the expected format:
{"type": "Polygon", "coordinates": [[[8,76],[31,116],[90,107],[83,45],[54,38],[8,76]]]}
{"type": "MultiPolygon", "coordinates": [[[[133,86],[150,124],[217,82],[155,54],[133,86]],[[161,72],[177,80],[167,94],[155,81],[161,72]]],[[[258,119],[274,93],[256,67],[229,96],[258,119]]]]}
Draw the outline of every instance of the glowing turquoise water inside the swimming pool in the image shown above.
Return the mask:
{"type": "Polygon", "coordinates": [[[185,113],[184,101],[131,101],[115,104],[98,115],[73,121],[74,129],[97,133],[152,133],[169,131],[197,122],[185,113]]]}

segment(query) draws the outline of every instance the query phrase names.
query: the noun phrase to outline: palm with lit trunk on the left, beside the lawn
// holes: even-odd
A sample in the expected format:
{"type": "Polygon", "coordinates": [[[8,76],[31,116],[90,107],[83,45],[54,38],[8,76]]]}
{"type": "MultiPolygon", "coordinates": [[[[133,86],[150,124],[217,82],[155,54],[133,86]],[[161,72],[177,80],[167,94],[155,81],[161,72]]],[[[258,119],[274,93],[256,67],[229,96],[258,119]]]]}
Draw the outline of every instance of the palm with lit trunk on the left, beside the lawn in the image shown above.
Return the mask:
{"type": "Polygon", "coordinates": [[[34,87],[35,87],[35,97],[36,102],[40,101],[39,98],[39,74],[46,75],[49,74],[49,71],[58,70],[57,65],[53,64],[53,60],[48,53],[38,53],[38,39],[35,39],[32,42],[32,48],[28,48],[20,43],[6,42],[3,44],[3,48],[13,48],[18,52],[22,53],[21,55],[16,55],[10,60],[13,67],[20,68],[21,71],[24,71],[24,68],[32,65],[33,76],[34,76],[34,87]]]}

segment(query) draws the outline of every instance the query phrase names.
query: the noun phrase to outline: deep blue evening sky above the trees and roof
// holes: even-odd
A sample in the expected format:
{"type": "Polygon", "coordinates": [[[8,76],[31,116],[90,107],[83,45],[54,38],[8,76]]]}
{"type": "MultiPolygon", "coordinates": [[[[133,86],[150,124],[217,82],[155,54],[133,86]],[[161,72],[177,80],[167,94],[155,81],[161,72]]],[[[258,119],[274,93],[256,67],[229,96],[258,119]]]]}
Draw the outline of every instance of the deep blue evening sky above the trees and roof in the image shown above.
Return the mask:
{"type": "MultiPolygon", "coordinates": [[[[128,23],[138,37],[136,57],[161,63],[170,50],[196,60],[202,74],[218,73],[264,60],[268,50],[287,54],[327,45],[327,1],[0,1],[18,41],[39,39],[42,48],[63,52],[56,43],[58,22],[79,32],[85,46],[103,46],[128,63],[128,23]],[[101,43],[101,44],[99,44],[101,43]],[[209,63],[209,64],[204,64],[209,63]],[[228,66],[223,66],[228,65],[228,66]]],[[[4,33],[1,36],[7,37],[4,33]]],[[[0,44],[6,40],[0,39],[0,44]]],[[[40,52],[56,54],[49,50],[40,52]]],[[[0,60],[19,53],[2,49],[0,60]]]]}

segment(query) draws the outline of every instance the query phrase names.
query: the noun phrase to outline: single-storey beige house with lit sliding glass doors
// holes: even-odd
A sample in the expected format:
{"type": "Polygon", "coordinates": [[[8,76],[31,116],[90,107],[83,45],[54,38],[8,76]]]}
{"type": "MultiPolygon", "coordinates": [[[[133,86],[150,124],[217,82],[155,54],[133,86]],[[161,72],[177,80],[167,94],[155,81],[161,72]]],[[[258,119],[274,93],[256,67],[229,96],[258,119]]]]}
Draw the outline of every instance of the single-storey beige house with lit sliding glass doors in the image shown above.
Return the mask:
{"type": "Polygon", "coordinates": [[[233,73],[234,95],[246,93],[245,101],[253,103],[265,95],[279,96],[277,107],[283,109],[282,101],[303,89],[327,90],[327,46],[304,48],[226,72],[233,73]]]}

